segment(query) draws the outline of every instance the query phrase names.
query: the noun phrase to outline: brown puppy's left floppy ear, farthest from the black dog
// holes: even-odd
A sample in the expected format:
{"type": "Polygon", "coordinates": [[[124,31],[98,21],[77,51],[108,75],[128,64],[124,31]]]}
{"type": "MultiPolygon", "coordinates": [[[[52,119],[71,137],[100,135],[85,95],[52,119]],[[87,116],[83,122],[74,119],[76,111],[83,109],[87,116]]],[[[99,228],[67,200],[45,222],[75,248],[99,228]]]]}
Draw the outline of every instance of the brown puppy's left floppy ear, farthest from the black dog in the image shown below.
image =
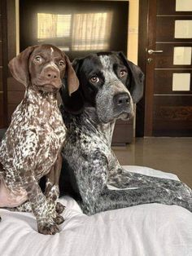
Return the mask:
{"type": "Polygon", "coordinates": [[[28,59],[33,52],[35,46],[29,46],[24,51],[22,51],[15,58],[10,60],[8,66],[10,68],[12,76],[24,86],[28,85],[28,59]]]}

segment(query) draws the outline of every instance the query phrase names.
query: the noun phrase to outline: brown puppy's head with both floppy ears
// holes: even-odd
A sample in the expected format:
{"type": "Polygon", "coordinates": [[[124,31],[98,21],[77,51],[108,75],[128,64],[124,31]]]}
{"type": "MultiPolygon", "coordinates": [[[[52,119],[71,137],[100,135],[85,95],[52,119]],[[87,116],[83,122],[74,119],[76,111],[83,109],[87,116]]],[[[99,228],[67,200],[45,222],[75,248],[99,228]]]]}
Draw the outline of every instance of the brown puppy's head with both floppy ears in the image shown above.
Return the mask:
{"type": "Polygon", "coordinates": [[[59,90],[65,73],[70,95],[79,86],[68,56],[52,45],[29,46],[9,62],[9,68],[17,81],[24,86],[35,86],[37,90],[59,90]]]}

